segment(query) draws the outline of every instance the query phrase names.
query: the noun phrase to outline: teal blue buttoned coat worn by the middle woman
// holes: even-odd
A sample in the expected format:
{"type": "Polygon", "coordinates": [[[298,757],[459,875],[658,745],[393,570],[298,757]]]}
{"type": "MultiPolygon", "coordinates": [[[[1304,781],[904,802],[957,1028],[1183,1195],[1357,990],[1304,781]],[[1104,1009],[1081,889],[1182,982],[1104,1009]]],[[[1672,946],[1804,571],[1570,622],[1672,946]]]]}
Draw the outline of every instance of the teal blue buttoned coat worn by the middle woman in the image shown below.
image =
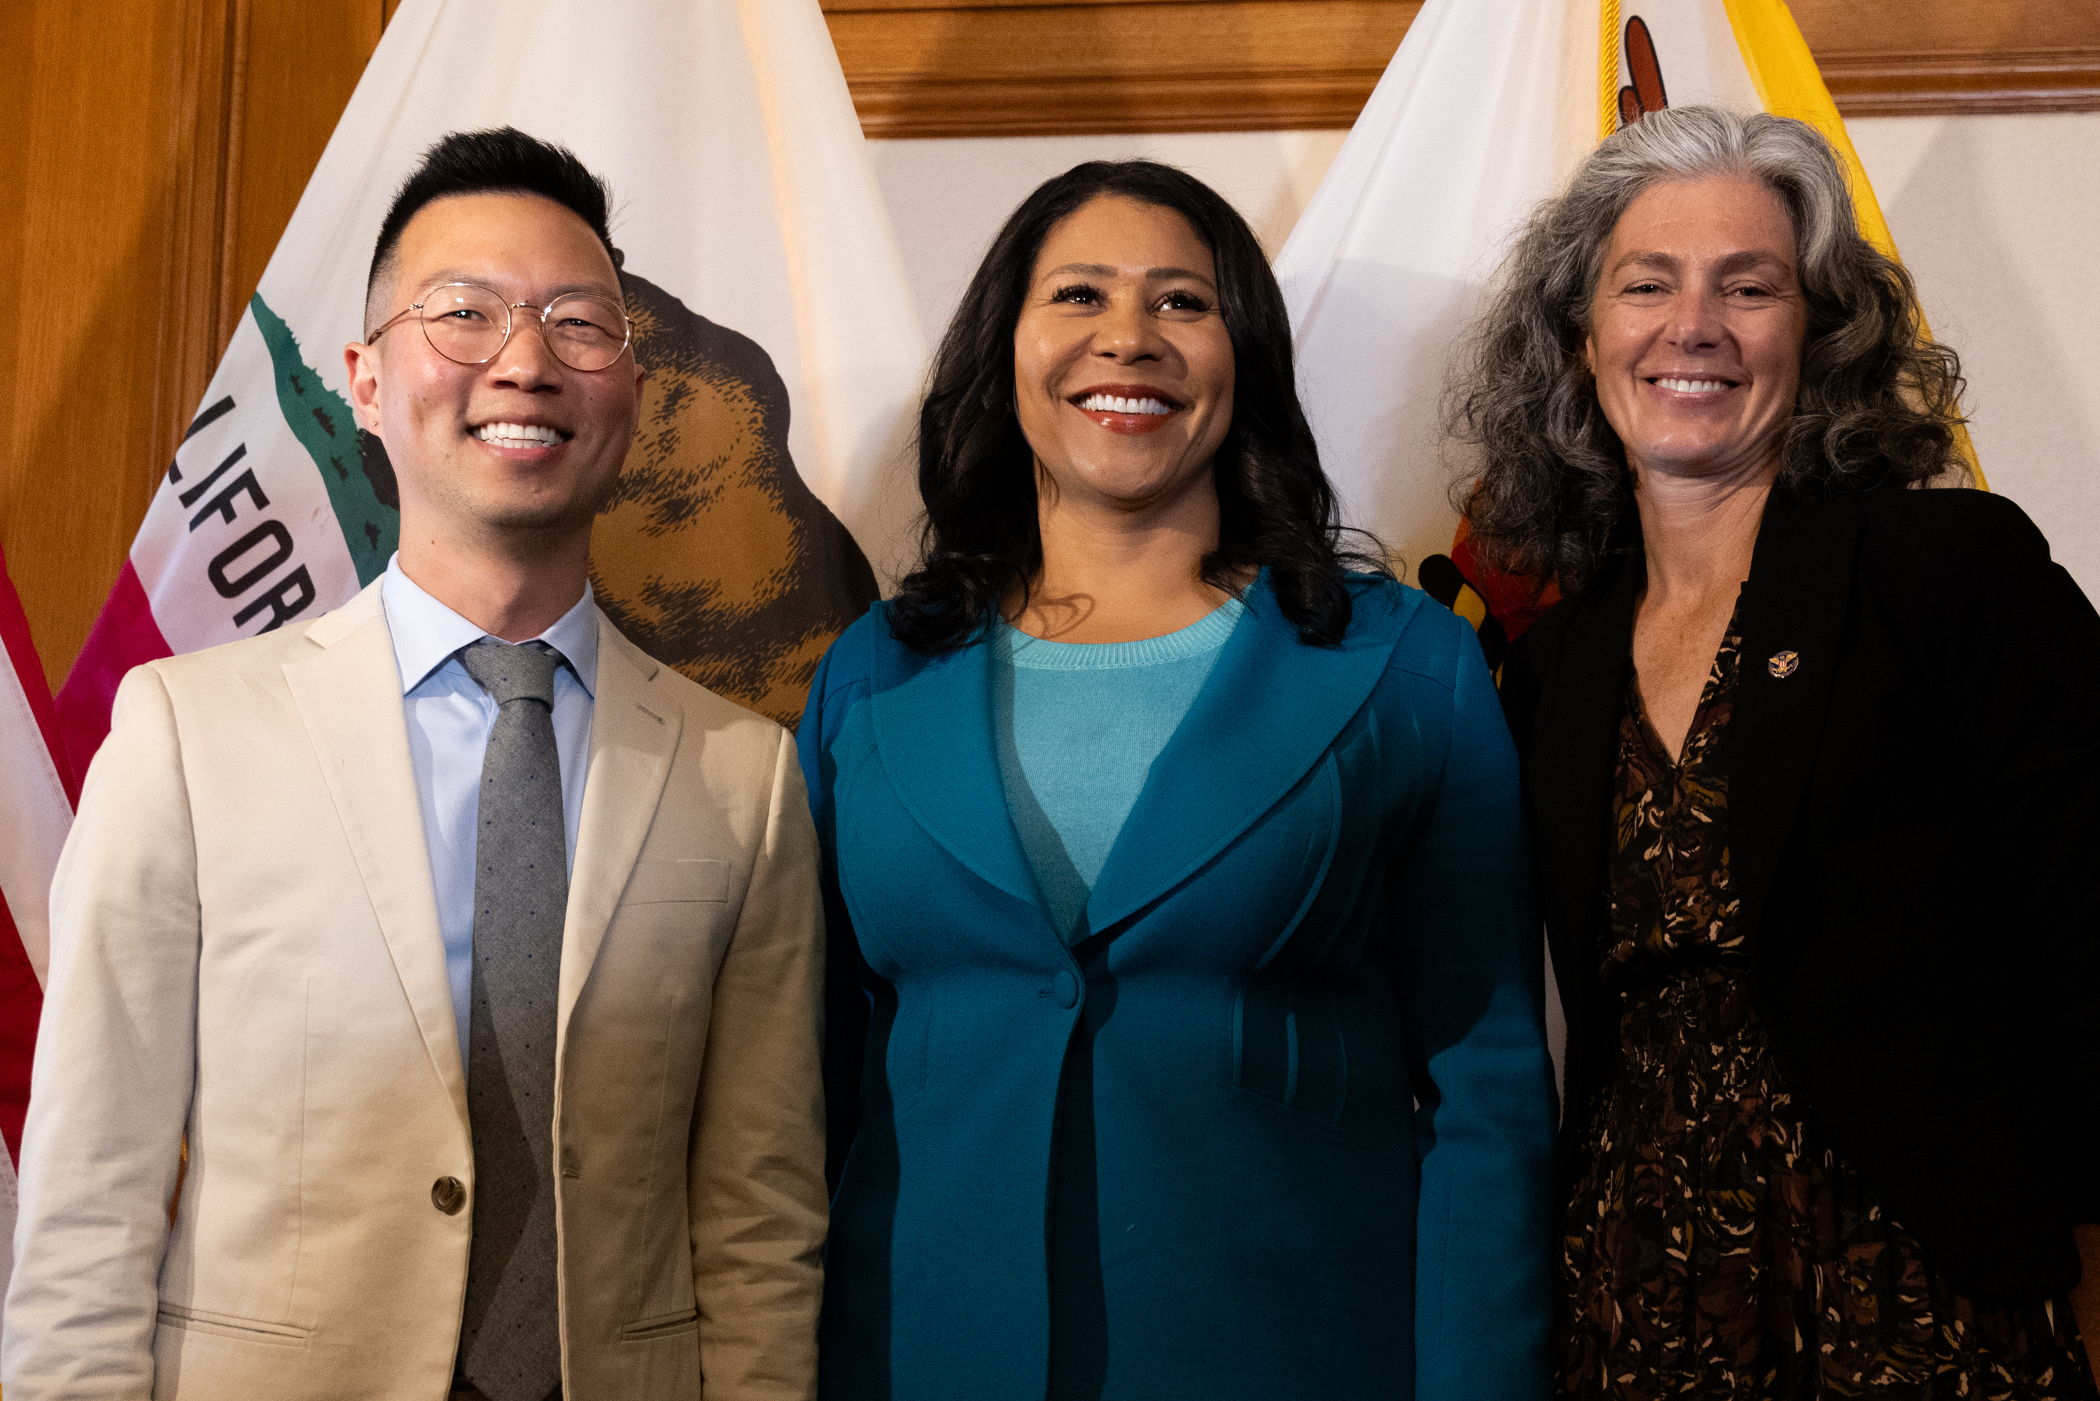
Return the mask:
{"type": "Polygon", "coordinates": [[[1266,582],[1052,928],[991,649],[882,605],[817,672],[827,1401],[1548,1393],[1552,1088],[1516,758],[1472,630],[1266,582]]]}

